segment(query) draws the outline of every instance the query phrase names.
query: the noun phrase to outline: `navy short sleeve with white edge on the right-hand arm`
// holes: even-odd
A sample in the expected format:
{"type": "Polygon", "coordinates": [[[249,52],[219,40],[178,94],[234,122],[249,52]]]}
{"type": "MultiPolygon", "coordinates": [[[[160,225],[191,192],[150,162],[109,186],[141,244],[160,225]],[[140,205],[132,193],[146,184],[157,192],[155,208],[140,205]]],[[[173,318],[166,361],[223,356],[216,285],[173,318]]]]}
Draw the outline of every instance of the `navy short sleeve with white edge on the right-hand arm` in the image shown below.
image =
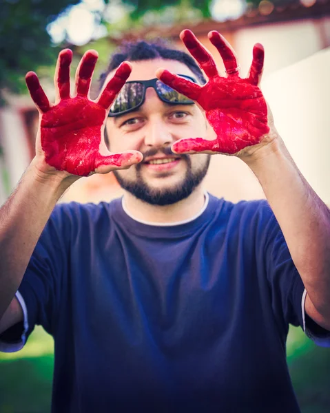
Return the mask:
{"type": "MultiPolygon", "coordinates": [[[[267,209],[269,213],[270,207],[268,206],[267,209]]],[[[305,314],[305,286],[293,264],[280,225],[272,212],[267,218],[265,235],[265,260],[271,288],[271,305],[280,329],[286,334],[289,324],[300,326],[307,337],[313,339],[316,344],[321,345],[319,340],[321,335],[322,345],[328,343],[330,346],[330,339],[324,341],[327,330],[314,323],[317,326],[315,328],[305,314]]]]}

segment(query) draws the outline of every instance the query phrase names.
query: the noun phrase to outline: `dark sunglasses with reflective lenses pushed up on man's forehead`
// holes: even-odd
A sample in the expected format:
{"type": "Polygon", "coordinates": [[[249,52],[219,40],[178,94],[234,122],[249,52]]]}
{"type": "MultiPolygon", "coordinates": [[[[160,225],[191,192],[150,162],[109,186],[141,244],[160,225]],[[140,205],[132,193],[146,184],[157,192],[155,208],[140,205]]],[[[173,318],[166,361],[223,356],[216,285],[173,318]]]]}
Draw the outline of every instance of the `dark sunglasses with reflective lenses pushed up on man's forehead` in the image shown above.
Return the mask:
{"type": "MultiPolygon", "coordinates": [[[[197,81],[185,74],[179,74],[178,76],[197,83],[197,81]]],[[[187,98],[187,96],[176,92],[161,82],[158,78],[151,79],[149,81],[131,81],[126,82],[121,88],[121,91],[117,95],[114,103],[110,108],[109,116],[119,116],[132,112],[138,109],[145,101],[145,91],[148,87],[153,87],[158,95],[158,98],[170,105],[192,105],[194,100],[187,98]]]]}

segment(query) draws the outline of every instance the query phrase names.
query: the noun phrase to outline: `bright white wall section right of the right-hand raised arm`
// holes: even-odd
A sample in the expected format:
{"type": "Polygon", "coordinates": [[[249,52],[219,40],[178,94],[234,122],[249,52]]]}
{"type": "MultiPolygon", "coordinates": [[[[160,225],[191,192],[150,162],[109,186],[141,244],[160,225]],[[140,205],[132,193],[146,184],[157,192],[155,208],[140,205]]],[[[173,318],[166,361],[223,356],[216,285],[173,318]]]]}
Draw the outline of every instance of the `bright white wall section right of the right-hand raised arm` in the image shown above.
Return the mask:
{"type": "Polygon", "coordinates": [[[291,156],[330,204],[330,47],[271,74],[262,91],[291,156]]]}

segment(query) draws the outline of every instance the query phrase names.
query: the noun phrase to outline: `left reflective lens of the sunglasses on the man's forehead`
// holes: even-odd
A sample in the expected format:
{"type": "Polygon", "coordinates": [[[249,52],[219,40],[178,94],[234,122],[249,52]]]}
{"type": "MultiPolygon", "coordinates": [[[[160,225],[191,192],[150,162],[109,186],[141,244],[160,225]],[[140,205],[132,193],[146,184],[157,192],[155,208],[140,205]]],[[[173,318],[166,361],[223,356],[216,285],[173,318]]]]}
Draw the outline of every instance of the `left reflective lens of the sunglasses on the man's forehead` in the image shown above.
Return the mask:
{"type": "Polygon", "coordinates": [[[125,83],[116,100],[112,103],[110,113],[118,114],[138,106],[143,98],[143,89],[144,86],[142,83],[125,83]]]}

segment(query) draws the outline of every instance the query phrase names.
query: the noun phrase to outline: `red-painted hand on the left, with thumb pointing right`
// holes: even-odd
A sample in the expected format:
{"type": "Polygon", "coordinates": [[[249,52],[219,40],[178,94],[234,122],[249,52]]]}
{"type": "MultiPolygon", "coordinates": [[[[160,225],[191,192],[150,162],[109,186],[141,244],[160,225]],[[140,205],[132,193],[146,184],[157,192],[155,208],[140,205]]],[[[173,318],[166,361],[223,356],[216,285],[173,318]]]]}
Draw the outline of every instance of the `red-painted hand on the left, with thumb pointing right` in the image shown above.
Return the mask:
{"type": "Polygon", "coordinates": [[[48,165],[78,176],[127,168],[143,158],[138,151],[110,153],[105,147],[102,136],[107,113],[116,94],[130,76],[131,67],[127,62],[122,63],[99,98],[90,100],[90,83],[97,57],[95,50],[84,54],[76,70],[76,89],[70,96],[72,52],[66,49],[59,54],[54,105],[50,105],[37,74],[28,72],[25,76],[30,95],[40,114],[37,154],[43,151],[48,165]]]}

